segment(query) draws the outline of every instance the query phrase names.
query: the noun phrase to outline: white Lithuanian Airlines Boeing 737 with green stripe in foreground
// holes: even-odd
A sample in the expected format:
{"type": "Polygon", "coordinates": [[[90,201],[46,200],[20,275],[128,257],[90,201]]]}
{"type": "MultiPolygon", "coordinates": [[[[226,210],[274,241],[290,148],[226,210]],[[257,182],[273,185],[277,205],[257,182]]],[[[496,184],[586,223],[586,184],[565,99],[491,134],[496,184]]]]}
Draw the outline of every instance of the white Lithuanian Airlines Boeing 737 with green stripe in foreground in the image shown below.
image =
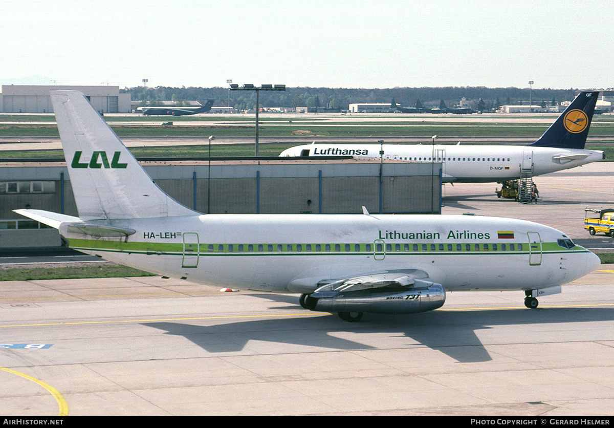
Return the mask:
{"type": "Polygon", "coordinates": [[[199,214],[155,185],[78,91],[51,91],[79,217],[15,212],[64,243],[123,265],[202,284],[302,294],[304,308],[437,309],[445,290],[560,292],[599,258],[551,227],[478,216],[199,214]]]}

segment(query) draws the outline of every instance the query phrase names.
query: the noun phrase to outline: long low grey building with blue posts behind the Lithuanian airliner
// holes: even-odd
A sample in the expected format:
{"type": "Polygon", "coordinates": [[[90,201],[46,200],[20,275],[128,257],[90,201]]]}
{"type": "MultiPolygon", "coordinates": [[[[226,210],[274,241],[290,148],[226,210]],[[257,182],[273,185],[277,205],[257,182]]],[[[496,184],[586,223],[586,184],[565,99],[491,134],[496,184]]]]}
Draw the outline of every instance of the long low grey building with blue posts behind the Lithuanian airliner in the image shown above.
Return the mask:
{"type": "MultiPolygon", "coordinates": [[[[365,206],[371,214],[441,214],[440,163],[278,159],[142,165],[162,190],[203,213],[360,214],[365,206]]],[[[66,163],[0,164],[0,248],[59,246],[55,229],[12,211],[20,208],[77,216],[66,163]]]]}

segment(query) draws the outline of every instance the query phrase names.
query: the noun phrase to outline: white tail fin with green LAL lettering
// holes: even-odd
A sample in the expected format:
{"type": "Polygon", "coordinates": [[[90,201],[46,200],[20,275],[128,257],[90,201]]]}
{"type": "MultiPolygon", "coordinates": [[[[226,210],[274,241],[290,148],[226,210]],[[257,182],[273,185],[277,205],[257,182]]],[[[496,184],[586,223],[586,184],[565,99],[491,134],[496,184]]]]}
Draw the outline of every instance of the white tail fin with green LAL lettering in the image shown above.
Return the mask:
{"type": "Polygon", "coordinates": [[[195,216],[166,195],[79,91],[50,91],[81,220],[195,216]]]}

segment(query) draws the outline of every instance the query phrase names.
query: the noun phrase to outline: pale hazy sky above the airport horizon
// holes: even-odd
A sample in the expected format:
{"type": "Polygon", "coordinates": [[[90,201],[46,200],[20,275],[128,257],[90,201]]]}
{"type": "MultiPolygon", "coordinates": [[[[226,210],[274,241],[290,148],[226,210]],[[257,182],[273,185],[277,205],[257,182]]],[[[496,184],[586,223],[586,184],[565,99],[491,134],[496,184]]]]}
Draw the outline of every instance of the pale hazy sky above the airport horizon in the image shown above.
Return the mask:
{"type": "Polygon", "coordinates": [[[614,86],[612,0],[4,0],[2,15],[1,84],[614,86]]]}

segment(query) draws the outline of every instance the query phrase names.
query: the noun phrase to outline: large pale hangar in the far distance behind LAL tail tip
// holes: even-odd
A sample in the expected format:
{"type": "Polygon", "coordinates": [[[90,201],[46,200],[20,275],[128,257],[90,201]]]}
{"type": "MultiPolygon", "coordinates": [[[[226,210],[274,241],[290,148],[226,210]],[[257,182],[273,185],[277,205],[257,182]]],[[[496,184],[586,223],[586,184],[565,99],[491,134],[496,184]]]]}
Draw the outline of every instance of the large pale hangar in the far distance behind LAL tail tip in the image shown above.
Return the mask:
{"type": "Polygon", "coordinates": [[[49,90],[78,90],[99,113],[130,113],[130,93],[119,86],[0,85],[2,113],[53,113],[49,90]]]}

